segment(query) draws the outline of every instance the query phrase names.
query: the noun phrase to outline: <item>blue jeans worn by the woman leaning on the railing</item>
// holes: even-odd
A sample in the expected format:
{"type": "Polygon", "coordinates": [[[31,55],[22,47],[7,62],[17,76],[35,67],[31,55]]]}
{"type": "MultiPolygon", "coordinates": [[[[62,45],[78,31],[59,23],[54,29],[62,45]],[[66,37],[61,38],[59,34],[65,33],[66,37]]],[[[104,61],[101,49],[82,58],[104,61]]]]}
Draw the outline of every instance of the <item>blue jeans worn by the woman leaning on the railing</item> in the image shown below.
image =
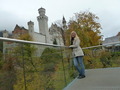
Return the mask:
{"type": "Polygon", "coordinates": [[[76,67],[77,71],[79,72],[79,75],[85,75],[85,67],[83,64],[83,56],[74,57],[74,66],[76,67]]]}

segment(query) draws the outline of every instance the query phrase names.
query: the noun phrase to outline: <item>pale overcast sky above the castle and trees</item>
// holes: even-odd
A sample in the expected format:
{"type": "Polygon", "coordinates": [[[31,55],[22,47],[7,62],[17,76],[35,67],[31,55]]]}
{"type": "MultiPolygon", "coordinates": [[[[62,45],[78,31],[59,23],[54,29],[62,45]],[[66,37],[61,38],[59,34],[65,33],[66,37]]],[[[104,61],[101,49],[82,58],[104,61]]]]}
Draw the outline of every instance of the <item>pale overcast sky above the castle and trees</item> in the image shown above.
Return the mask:
{"type": "Polygon", "coordinates": [[[27,22],[31,20],[38,32],[41,7],[46,9],[49,27],[63,16],[68,22],[75,13],[89,10],[99,17],[103,38],[120,32],[120,0],[0,0],[0,30],[12,31],[16,24],[28,28],[27,22]]]}

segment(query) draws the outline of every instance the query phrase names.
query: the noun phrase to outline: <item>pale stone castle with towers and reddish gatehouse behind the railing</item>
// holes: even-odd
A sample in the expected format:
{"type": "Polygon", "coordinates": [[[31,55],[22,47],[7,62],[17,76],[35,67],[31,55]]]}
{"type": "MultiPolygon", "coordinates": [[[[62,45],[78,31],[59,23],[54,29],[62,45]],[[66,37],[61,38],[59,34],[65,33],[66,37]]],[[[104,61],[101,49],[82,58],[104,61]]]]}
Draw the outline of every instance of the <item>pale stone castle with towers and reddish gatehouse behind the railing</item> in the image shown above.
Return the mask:
{"type": "MultiPolygon", "coordinates": [[[[11,34],[8,33],[7,30],[2,31],[1,37],[18,39],[20,35],[29,33],[33,41],[50,44],[54,44],[54,41],[56,41],[57,45],[64,45],[64,32],[67,29],[65,18],[63,17],[62,27],[52,24],[51,27],[48,28],[48,17],[45,15],[45,12],[46,10],[42,7],[38,9],[39,16],[37,16],[37,21],[39,32],[34,31],[34,22],[29,21],[27,23],[28,29],[16,25],[11,34]]],[[[3,52],[5,52],[9,46],[11,46],[11,43],[3,43],[3,52]]]]}

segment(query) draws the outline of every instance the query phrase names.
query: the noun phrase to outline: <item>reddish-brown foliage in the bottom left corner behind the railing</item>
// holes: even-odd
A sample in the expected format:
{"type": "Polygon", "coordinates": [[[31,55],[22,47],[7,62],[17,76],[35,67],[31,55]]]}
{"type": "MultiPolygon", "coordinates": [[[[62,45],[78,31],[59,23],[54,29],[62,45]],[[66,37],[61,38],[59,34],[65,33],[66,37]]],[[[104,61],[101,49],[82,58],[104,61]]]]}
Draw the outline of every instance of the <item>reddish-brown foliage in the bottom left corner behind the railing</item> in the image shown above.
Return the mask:
{"type": "Polygon", "coordinates": [[[0,70],[0,89],[1,90],[14,90],[14,84],[16,83],[16,71],[14,66],[14,57],[7,55],[2,69],[0,70]]]}

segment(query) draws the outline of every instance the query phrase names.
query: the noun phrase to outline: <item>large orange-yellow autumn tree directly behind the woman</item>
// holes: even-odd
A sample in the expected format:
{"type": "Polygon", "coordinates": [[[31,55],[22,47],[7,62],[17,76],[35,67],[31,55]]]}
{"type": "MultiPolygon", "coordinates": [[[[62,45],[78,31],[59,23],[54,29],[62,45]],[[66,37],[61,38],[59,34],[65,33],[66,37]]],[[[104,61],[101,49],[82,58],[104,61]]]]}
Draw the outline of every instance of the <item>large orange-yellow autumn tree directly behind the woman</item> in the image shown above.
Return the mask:
{"type": "Polygon", "coordinates": [[[99,17],[89,11],[76,13],[69,21],[68,30],[66,32],[67,45],[69,45],[71,31],[77,32],[82,47],[100,44],[100,30],[102,28],[98,20],[99,17]]]}

